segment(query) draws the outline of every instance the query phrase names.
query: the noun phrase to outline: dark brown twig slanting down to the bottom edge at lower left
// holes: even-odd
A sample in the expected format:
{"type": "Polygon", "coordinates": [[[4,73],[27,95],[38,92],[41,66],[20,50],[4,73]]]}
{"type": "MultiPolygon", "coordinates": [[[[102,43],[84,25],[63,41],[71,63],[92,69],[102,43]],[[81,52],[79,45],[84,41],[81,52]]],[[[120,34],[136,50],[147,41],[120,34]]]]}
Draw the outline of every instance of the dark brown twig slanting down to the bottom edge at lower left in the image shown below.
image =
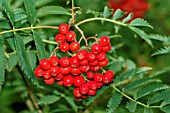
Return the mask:
{"type": "Polygon", "coordinates": [[[25,86],[26,86],[26,88],[27,88],[29,97],[30,97],[30,99],[31,99],[34,107],[36,108],[36,110],[38,111],[38,113],[42,113],[41,109],[39,108],[39,106],[38,106],[38,104],[37,104],[37,101],[36,101],[35,98],[34,98],[34,95],[33,95],[32,91],[31,91],[31,89],[30,89],[30,87],[29,87],[29,85],[28,85],[28,83],[27,83],[27,80],[26,80],[26,78],[25,78],[25,76],[24,76],[21,68],[20,68],[18,65],[17,65],[16,67],[17,67],[18,71],[19,71],[20,74],[21,74],[21,77],[22,77],[22,79],[23,79],[23,81],[24,81],[24,83],[25,83],[25,86]]]}

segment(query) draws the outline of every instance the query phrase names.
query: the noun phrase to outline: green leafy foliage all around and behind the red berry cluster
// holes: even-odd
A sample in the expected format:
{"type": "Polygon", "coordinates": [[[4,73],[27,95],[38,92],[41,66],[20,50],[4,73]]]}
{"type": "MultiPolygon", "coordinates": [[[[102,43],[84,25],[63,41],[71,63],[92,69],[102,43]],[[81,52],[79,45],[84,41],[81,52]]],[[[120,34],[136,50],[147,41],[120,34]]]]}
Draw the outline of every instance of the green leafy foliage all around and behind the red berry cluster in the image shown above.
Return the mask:
{"type": "MultiPolygon", "coordinates": [[[[80,26],[87,37],[95,34],[99,34],[98,37],[112,37],[112,51],[107,55],[110,64],[105,69],[114,70],[116,78],[113,85],[103,87],[96,96],[75,101],[70,93],[73,88],[56,84],[47,86],[42,80],[37,80],[32,71],[38,61],[48,58],[56,46],[54,37],[57,26],[68,23],[71,18],[67,11],[71,8],[71,2],[0,0],[0,112],[29,113],[41,109],[43,113],[112,113],[114,110],[116,113],[168,113],[170,1],[148,2],[151,8],[145,15],[145,20],[149,24],[138,19],[128,26],[125,23],[124,26],[119,15],[115,15],[114,20],[119,22],[118,24],[115,24],[115,21],[92,21],[80,26]],[[151,29],[150,25],[154,28],[151,29]],[[31,29],[31,26],[53,27],[31,29]],[[26,27],[29,28],[2,33],[26,27]],[[162,53],[166,54],[159,55],[162,53]],[[152,71],[149,67],[152,67],[152,71]],[[30,91],[39,108],[32,103],[30,91]]],[[[93,17],[111,19],[109,10],[105,9],[103,12],[107,5],[105,0],[75,0],[75,6],[82,9],[77,10],[76,21],[93,17]]],[[[78,32],[77,35],[80,38],[78,32]]],[[[59,57],[64,55],[66,54],[57,52],[59,57]]]]}

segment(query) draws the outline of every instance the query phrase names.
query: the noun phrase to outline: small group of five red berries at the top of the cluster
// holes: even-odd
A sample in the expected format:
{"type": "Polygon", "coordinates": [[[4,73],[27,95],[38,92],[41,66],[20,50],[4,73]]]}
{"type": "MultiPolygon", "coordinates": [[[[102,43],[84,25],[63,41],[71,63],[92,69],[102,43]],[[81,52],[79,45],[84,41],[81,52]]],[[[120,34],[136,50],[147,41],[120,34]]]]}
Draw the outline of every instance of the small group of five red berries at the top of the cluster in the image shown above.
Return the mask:
{"type": "Polygon", "coordinates": [[[67,24],[60,24],[58,30],[59,34],[55,36],[55,40],[60,44],[60,50],[62,52],[76,52],[80,49],[80,44],[76,42],[76,33],[69,31],[70,27],[67,24]]]}

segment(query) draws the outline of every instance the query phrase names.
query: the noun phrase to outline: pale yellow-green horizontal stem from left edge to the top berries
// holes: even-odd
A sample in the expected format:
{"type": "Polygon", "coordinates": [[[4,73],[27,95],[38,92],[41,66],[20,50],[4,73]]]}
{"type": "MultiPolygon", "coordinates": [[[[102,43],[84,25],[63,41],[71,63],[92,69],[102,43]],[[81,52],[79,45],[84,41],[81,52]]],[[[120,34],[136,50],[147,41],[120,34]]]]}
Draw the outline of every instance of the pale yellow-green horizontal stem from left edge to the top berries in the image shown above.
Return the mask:
{"type": "Polygon", "coordinates": [[[3,31],[3,32],[0,32],[0,35],[5,34],[5,33],[10,33],[10,32],[30,30],[30,29],[41,29],[41,28],[58,29],[58,27],[56,26],[35,26],[35,27],[30,26],[30,27],[25,27],[25,28],[18,28],[18,29],[3,31]]]}

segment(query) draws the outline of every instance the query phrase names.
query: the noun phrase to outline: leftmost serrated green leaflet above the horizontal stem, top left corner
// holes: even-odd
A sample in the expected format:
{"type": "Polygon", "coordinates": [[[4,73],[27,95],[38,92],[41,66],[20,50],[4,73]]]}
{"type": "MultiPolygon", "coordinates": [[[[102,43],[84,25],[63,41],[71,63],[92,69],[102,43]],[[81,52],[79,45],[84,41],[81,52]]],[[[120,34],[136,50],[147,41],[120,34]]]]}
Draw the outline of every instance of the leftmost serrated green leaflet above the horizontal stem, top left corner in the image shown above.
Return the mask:
{"type": "Polygon", "coordinates": [[[2,4],[3,4],[2,7],[5,13],[7,14],[12,26],[14,26],[15,16],[13,10],[10,8],[9,3],[10,3],[9,0],[2,0],[2,4]]]}

